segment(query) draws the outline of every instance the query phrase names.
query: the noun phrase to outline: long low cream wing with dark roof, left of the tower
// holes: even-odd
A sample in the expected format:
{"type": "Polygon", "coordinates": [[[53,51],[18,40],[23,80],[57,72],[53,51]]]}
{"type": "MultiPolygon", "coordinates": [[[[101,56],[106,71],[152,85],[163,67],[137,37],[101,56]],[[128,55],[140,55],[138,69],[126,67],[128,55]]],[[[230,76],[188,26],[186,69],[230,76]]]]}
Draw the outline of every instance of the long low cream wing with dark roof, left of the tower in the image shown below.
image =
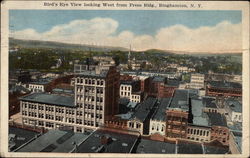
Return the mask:
{"type": "Polygon", "coordinates": [[[77,113],[74,98],[45,93],[32,93],[20,97],[23,124],[45,128],[83,125],[83,113],[77,113]],[[79,119],[81,121],[79,121],[79,119]]]}

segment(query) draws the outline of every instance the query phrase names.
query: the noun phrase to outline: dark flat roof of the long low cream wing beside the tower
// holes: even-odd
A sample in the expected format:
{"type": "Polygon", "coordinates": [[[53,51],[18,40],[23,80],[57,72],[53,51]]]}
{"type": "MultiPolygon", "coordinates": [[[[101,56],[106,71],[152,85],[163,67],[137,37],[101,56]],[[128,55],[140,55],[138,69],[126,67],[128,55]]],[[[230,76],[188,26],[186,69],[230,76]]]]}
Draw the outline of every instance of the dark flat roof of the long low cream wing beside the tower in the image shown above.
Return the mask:
{"type": "Polygon", "coordinates": [[[32,93],[26,96],[22,96],[19,99],[22,101],[75,107],[74,97],[72,96],[61,96],[61,95],[47,94],[47,93],[32,93]]]}

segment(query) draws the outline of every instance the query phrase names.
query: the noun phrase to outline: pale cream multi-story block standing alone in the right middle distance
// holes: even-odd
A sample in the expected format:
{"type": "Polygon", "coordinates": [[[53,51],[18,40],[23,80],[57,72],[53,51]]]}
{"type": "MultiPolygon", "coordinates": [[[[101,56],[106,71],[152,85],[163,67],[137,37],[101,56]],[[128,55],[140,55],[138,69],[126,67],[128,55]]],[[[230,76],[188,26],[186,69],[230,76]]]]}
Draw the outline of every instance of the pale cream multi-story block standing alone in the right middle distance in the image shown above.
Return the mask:
{"type": "Polygon", "coordinates": [[[204,74],[191,74],[190,88],[202,89],[204,87],[205,75],[204,74]]]}

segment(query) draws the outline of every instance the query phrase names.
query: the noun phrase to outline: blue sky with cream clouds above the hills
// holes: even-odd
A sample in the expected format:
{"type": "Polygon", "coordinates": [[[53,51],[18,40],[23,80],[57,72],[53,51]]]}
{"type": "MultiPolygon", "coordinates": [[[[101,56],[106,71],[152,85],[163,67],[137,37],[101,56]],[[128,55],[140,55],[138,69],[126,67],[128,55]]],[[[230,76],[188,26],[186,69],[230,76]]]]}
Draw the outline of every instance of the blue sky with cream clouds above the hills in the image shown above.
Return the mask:
{"type": "Polygon", "coordinates": [[[241,11],[11,10],[17,39],[191,52],[241,49],[241,11]]]}

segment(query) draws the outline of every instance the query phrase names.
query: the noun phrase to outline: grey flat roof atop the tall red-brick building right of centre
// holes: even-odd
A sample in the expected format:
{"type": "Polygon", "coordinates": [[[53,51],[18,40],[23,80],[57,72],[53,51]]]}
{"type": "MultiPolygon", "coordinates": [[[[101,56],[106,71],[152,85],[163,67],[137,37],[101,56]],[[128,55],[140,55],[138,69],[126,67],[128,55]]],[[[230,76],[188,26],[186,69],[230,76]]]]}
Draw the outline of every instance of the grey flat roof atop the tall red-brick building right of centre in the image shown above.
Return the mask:
{"type": "Polygon", "coordinates": [[[177,89],[174,92],[173,99],[169,108],[177,108],[182,110],[189,110],[189,92],[188,90],[177,89]]]}

